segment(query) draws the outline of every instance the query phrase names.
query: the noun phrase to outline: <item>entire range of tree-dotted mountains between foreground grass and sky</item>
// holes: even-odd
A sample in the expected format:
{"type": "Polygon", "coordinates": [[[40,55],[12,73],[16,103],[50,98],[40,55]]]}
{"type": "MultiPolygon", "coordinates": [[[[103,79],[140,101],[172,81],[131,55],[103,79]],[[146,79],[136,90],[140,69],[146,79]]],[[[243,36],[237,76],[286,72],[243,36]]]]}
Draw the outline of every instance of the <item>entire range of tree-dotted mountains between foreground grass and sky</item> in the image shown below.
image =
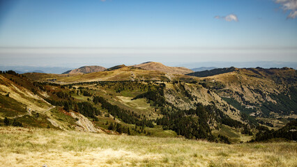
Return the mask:
{"type": "Polygon", "coordinates": [[[238,143],[257,136],[259,125],[276,130],[296,119],[296,86],[287,67],[193,72],[146,62],[8,71],[0,74],[0,125],[6,118],[25,127],[238,143]]]}

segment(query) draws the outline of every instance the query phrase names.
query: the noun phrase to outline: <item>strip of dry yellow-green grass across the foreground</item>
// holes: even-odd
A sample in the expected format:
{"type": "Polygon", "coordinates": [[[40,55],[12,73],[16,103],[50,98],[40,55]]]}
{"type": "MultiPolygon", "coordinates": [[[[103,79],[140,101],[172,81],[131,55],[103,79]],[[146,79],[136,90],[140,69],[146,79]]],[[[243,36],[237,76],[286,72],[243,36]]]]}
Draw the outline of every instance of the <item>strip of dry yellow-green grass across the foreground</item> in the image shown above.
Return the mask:
{"type": "Polygon", "coordinates": [[[297,166],[296,150],[296,143],[225,145],[0,127],[1,166],[297,166]]]}

